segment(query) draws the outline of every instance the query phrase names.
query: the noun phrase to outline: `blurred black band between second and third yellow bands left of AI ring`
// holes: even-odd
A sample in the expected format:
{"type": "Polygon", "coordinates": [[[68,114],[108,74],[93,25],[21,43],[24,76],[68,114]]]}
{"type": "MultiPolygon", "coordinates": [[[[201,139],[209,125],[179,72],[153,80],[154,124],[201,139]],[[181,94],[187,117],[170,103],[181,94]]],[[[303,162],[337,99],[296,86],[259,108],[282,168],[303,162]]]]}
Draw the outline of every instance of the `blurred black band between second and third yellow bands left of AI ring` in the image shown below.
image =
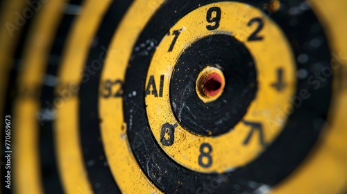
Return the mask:
{"type": "MultiPolygon", "coordinates": [[[[83,1],[71,1],[69,4],[81,6],[83,1]]],[[[51,47],[49,62],[46,64],[46,75],[57,76],[58,69],[61,67],[60,56],[62,56],[63,49],[67,44],[67,39],[71,28],[73,27],[76,15],[65,14],[60,21],[54,43],[51,47]],[[54,56],[59,56],[58,59],[54,56]],[[58,65],[57,65],[58,64],[58,65]]],[[[56,99],[54,96],[54,87],[48,85],[42,85],[41,88],[41,110],[53,109],[53,101],[56,99]]],[[[62,96],[58,96],[62,98],[62,96]]],[[[60,179],[60,173],[58,168],[58,159],[55,148],[55,134],[53,121],[46,120],[41,121],[40,124],[40,167],[42,176],[42,185],[44,193],[63,193],[64,186],[60,179]]]]}

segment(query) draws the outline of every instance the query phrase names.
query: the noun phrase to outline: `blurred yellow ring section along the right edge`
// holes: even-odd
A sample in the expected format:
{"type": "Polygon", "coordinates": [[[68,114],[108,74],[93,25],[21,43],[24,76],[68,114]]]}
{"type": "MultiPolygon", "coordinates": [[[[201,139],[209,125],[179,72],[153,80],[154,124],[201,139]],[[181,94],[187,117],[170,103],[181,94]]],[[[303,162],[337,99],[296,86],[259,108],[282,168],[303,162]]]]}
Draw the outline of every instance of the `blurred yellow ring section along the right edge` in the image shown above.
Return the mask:
{"type": "Polygon", "coordinates": [[[310,0],[312,8],[328,34],[332,48],[332,62],[340,64],[334,75],[336,85],[325,133],[301,166],[276,186],[271,193],[346,193],[347,191],[347,1],[310,0]]]}

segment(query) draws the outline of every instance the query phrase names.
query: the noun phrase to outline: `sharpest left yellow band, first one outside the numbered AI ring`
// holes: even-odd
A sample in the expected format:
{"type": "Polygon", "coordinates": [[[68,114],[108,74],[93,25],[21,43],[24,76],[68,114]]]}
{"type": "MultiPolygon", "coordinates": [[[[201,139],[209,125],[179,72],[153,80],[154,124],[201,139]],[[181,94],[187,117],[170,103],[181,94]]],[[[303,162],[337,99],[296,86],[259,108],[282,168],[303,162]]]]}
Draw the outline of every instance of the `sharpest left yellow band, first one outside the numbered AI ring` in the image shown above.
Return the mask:
{"type": "MultiPolygon", "coordinates": [[[[122,80],[137,36],[164,1],[136,0],[112,38],[103,67],[105,80],[122,80]],[[131,22],[129,22],[131,21],[131,22]],[[119,49],[121,48],[121,49],[119,49]]],[[[103,89],[103,85],[100,85],[103,89]]],[[[102,91],[101,91],[102,94],[102,91]]],[[[108,164],[122,193],[162,193],[144,175],[128,145],[122,98],[99,98],[101,135],[108,164]]]]}

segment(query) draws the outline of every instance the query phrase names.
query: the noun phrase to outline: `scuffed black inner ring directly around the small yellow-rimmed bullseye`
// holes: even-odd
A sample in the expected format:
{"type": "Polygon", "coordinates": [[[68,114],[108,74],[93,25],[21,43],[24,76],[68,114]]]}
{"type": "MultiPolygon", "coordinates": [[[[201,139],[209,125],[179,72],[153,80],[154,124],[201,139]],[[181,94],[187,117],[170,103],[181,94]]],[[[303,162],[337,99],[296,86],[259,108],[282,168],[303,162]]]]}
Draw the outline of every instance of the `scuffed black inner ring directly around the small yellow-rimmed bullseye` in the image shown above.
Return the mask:
{"type": "Polygon", "coordinates": [[[190,132],[218,136],[239,123],[256,91],[255,64],[246,46],[229,35],[210,35],[180,55],[171,77],[171,109],[190,132]],[[203,103],[195,91],[196,79],[208,66],[221,69],[226,85],[219,98],[203,103]]]}

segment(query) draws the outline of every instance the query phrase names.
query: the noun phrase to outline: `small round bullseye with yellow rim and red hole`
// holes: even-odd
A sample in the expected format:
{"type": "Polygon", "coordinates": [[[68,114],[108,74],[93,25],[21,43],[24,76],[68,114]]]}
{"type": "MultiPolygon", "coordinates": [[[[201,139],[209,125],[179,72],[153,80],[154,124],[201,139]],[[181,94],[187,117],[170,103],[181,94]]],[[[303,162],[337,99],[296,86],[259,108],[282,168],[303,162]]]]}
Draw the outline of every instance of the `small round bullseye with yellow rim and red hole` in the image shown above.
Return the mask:
{"type": "Polygon", "coordinates": [[[216,67],[206,67],[196,79],[196,93],[204,103],[216,100],[223,93],[225,78],[216,67]]]}

